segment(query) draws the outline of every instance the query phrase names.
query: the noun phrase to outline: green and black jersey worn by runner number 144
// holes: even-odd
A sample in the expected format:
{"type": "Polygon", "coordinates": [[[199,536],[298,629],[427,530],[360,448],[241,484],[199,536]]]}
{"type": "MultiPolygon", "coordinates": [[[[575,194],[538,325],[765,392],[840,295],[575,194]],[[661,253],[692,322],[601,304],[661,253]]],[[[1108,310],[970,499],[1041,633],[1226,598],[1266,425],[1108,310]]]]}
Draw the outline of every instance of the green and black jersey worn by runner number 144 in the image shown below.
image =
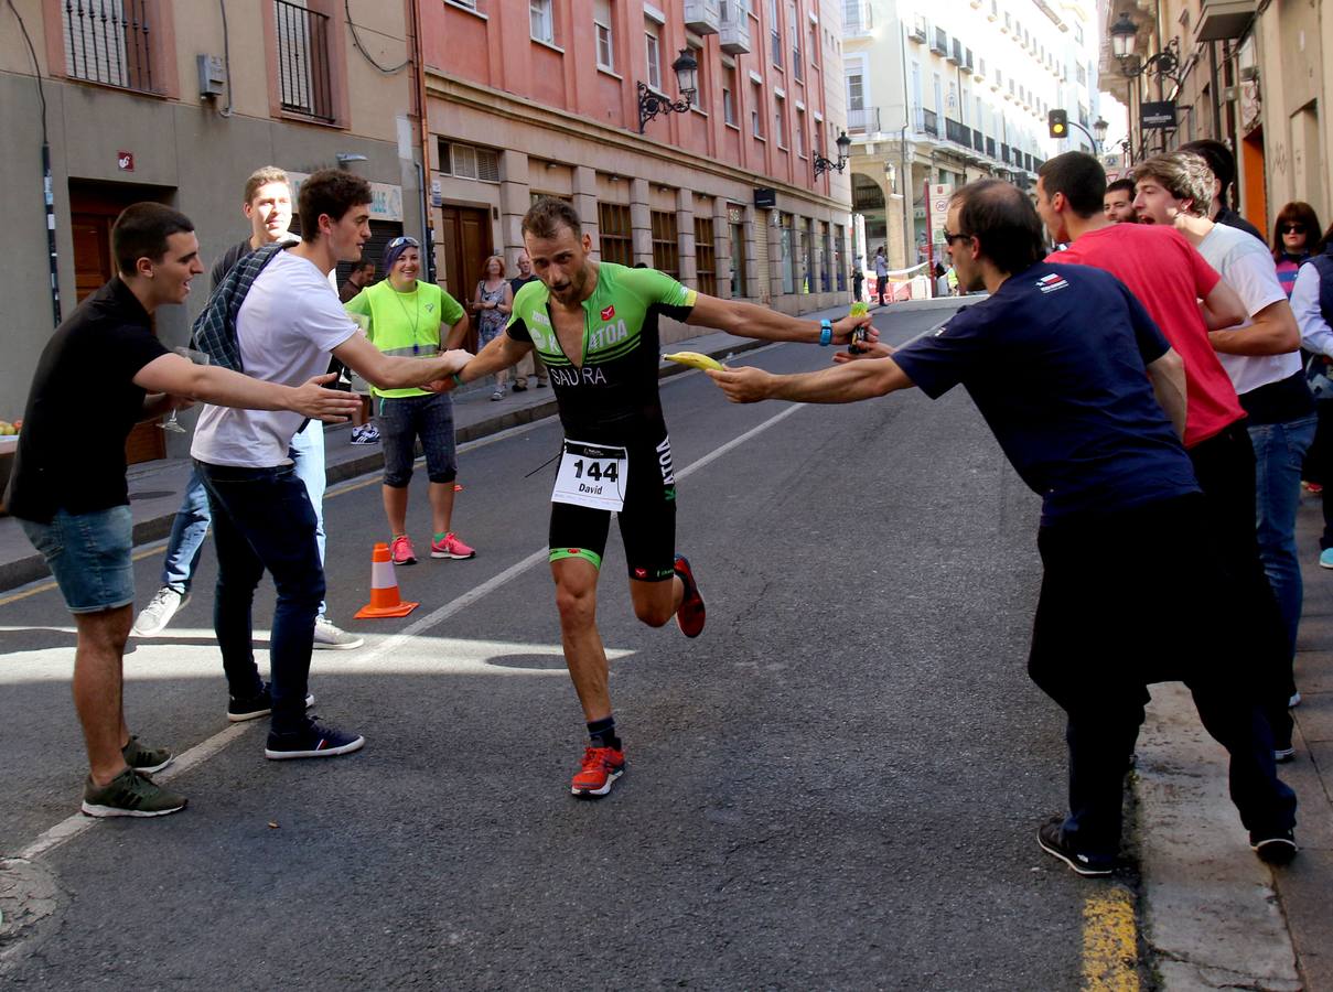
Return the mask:
{"type": "Polygon", "coordinates": [[[513,300],[507,325],[547,364],[565,433],[625,444],[666,433],[657,395],[657,317],[685,320],[697,293],[657,269],[597,265],[597,287],[583,303],[583,355],[571,360],[551,317],[551,293],[533,280],[513,300]]]}

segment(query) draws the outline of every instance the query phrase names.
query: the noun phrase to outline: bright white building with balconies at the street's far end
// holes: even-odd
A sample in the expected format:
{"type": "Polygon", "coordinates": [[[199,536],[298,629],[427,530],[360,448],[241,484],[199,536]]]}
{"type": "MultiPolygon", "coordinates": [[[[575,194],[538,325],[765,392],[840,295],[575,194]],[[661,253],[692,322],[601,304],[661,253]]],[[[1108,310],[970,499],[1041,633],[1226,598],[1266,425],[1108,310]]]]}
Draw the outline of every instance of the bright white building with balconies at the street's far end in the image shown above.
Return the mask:
{"type": "Polygon", "coordinates": [[[941,197],[984,176],[1029,187],[1046,157],[1092,148],[1097,37],[1092,3],[846,0],[844,72],[853,209],[868,253],[890,268],[944,257],[941,197]],[[936,191],[940,192],[940,191],[936,191]]]}

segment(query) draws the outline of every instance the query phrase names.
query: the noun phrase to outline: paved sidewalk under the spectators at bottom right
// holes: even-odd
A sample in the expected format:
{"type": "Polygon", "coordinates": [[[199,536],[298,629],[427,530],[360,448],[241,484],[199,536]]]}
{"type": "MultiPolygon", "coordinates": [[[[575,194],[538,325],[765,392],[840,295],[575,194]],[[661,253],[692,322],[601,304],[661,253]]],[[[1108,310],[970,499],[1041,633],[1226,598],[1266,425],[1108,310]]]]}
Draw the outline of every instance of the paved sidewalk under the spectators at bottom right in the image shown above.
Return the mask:
{"type": "MultiPolygon", "coordinates": [[[[1134,775],[1144,943],[1161,988],[1333,992],[1333,572],[1318,567],[1324,520],[1305,495],[1297,547],[1305,612],[1297,641],[1296,760],[1301,852],[1269,868],[1226,795],[1226,755],[1180,684],[1153,687],[1134,775]]],[[[1218,591],[1225,595],[1224,589],[1218,591]]]]}

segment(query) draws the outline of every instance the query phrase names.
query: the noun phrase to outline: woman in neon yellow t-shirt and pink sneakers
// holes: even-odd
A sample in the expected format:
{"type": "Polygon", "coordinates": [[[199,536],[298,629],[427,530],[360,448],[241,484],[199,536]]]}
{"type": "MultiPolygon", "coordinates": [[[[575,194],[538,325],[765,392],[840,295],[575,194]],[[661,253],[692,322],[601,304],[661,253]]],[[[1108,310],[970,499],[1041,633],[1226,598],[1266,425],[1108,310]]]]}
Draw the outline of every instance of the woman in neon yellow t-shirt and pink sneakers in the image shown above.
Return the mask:
{"type": "MultiPolygon", "coordinates": [[[[467,311],[433,283],[421,283],[421,245],[415,237],[395,237],[384,249],[383,271],[388,277],[363,289],[347,311],[359,316],[371,344],[385,355],[432,359],[459,348],[468,333],[467,311]],[[440,329],[448,325],[441,341],[440,329]]],[[[476,552],[453,533],[453,480],[459,455],[453,441],[453,399],[429,389],[380,389],[377,400],[380,440],[384,445],[384,515],[389,520],[389,555],[396,565],[416,564],[408,537],[408,483],[416,443],[425,451],[431,480],[431,557],[469,559],[476,552]]]]}

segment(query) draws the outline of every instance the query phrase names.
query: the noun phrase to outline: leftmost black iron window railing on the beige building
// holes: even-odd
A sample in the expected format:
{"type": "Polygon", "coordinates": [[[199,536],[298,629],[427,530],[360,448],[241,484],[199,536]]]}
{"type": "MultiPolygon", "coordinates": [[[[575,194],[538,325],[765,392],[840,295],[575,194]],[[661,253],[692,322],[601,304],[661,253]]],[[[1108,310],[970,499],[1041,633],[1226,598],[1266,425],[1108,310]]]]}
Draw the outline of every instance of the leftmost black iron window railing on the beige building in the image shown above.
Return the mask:
{"type": "Polygon", "coordinates": [[[155,93],[147,0],[64,0],[65,72],[72,79],[155,93]]]}

